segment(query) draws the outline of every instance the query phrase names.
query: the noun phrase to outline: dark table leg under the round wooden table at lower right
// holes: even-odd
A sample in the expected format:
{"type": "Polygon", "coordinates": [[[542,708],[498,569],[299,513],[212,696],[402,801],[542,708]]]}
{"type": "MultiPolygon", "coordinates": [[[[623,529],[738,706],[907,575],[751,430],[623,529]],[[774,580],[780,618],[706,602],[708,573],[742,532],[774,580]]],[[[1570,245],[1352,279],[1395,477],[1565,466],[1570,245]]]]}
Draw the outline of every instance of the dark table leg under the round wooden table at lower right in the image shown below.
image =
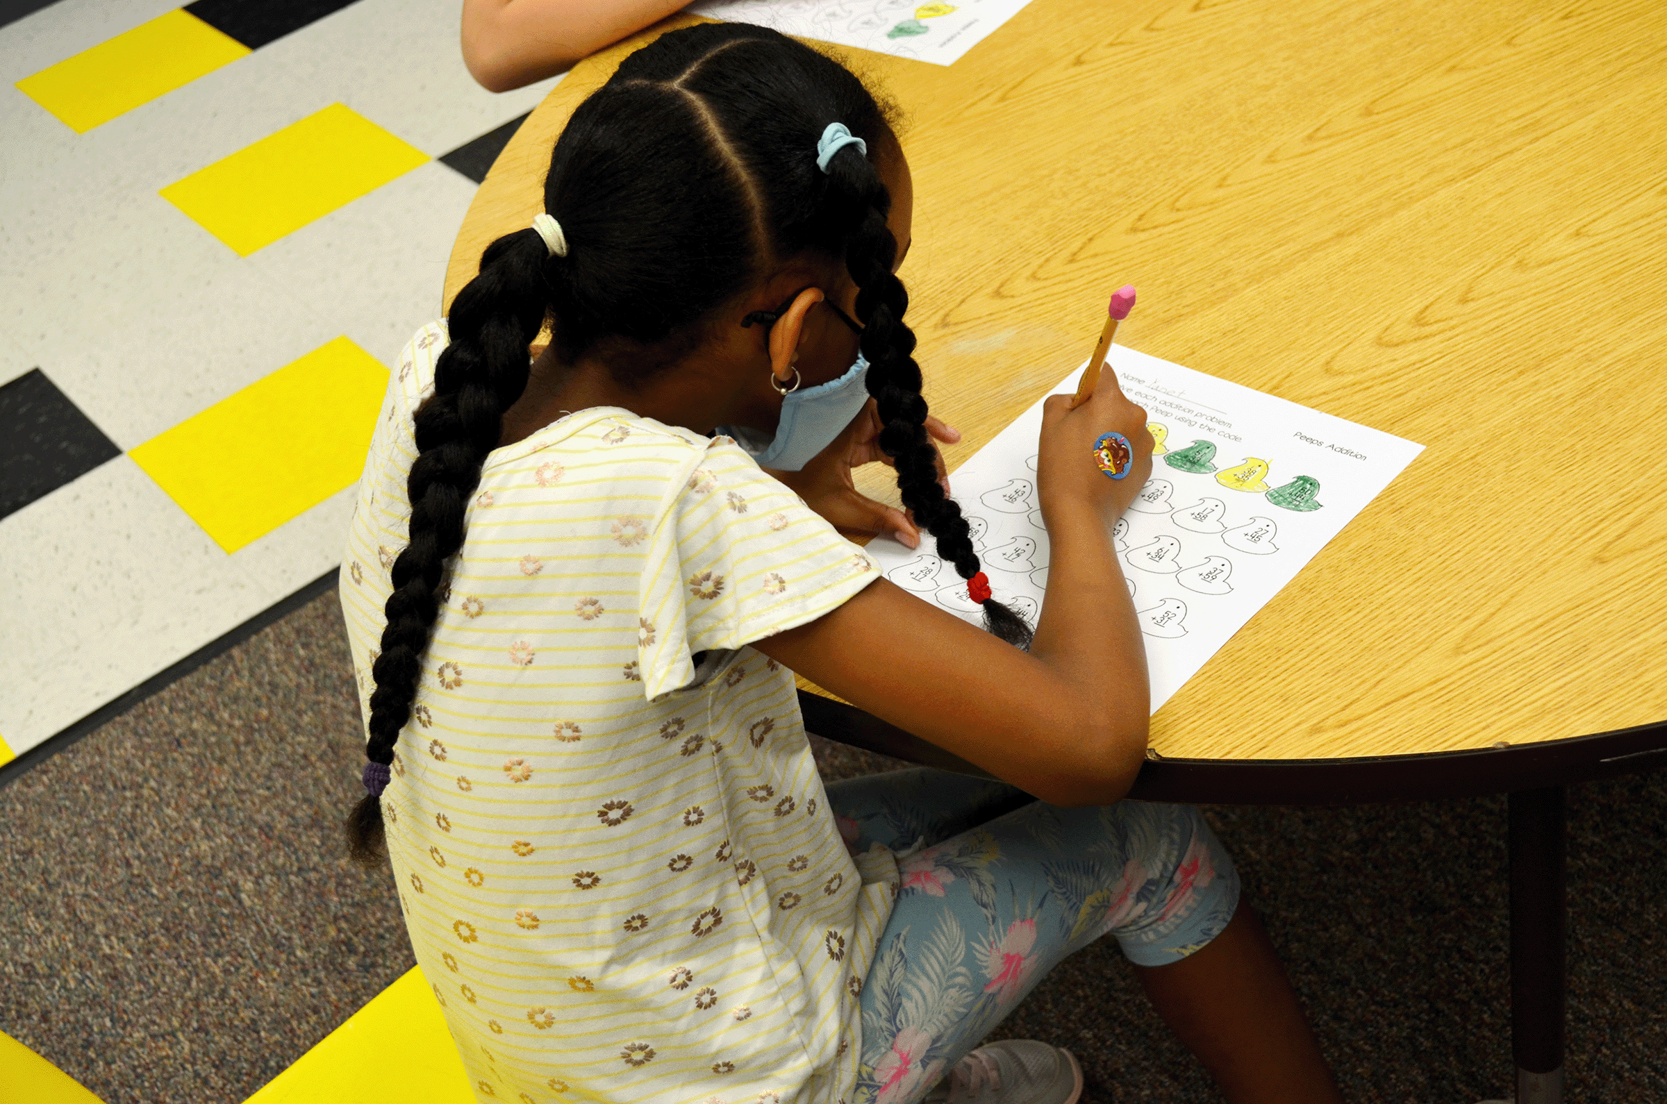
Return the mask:
{"type": "Polygon", "coordinates": [[[1567,982],[1565,790],[1519,790],[1510,819],[1510,1051],[1517,1104],[1562,1104],[1567,982]]]}

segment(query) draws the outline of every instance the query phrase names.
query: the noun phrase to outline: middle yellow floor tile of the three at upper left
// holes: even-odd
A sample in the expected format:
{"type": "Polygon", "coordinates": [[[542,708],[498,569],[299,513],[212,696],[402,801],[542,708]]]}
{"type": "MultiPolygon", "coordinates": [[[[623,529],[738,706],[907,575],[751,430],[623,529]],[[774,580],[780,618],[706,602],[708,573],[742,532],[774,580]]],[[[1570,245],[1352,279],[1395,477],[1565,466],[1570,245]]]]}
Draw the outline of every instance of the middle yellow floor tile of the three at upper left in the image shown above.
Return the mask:
{"type": "Polygon", "coordinates": [[[427,160],[417,147],[332,103],[170,183],[162,197],[248,257],[427,160]]]}

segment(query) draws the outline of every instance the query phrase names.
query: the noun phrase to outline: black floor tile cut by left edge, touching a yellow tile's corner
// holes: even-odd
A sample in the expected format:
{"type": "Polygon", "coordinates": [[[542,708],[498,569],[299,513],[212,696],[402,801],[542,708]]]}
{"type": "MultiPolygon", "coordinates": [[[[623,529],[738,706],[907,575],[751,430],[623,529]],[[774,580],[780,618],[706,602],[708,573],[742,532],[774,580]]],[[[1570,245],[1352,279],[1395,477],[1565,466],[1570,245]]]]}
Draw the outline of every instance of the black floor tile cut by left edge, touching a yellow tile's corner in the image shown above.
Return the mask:
{"type": "Polygon", "coordinates": [[[118,455],[40,369],[0,387],[0,517],[118,455]]]}

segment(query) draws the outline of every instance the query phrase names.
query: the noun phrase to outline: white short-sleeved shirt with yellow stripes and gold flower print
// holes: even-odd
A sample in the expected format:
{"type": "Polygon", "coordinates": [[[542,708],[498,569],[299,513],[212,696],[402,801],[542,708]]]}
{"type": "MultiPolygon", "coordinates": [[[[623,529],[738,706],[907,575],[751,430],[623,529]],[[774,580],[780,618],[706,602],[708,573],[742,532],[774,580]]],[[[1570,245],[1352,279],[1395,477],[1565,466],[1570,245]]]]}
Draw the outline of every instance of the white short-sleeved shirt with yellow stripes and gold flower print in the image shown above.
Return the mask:
{"type": "MultiPolygon", "coordinates": [[[[358,485],[367,715],[445,340],[400,357],[358,485]]],[[[382,807],[477,1097],[849,1099],[897,866],[847,854],[792,674],[747,645],[874,562],[735,442],[617,407],[493,450],[465,532],[382,807]]]]}

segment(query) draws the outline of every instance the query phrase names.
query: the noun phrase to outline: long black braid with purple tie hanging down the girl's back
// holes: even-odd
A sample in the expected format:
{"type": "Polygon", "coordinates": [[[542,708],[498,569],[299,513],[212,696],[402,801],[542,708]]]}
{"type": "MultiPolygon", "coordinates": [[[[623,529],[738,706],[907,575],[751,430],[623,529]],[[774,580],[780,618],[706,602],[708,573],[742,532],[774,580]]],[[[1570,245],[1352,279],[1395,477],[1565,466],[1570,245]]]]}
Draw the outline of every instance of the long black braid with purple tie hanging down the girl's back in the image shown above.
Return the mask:
{"type": "Polygon", "coordinates": [[[410,720],[435,617],[445,560],[463,545],[463,512],[480,465],[497,449],[503,412],[527,389],[527,347],[550,304],[550,252],[537,230],[487,247],[480,275],[452,302],[450,344],[433,374],[433,395],[415,417],[417,460],[407,480],[410,542],[393,560],[382,655],[372,667],[370,740],[363,799],[347,820],[347,846],[373,862],[383,846],[382,785],[393,745],[410,720]]]}

